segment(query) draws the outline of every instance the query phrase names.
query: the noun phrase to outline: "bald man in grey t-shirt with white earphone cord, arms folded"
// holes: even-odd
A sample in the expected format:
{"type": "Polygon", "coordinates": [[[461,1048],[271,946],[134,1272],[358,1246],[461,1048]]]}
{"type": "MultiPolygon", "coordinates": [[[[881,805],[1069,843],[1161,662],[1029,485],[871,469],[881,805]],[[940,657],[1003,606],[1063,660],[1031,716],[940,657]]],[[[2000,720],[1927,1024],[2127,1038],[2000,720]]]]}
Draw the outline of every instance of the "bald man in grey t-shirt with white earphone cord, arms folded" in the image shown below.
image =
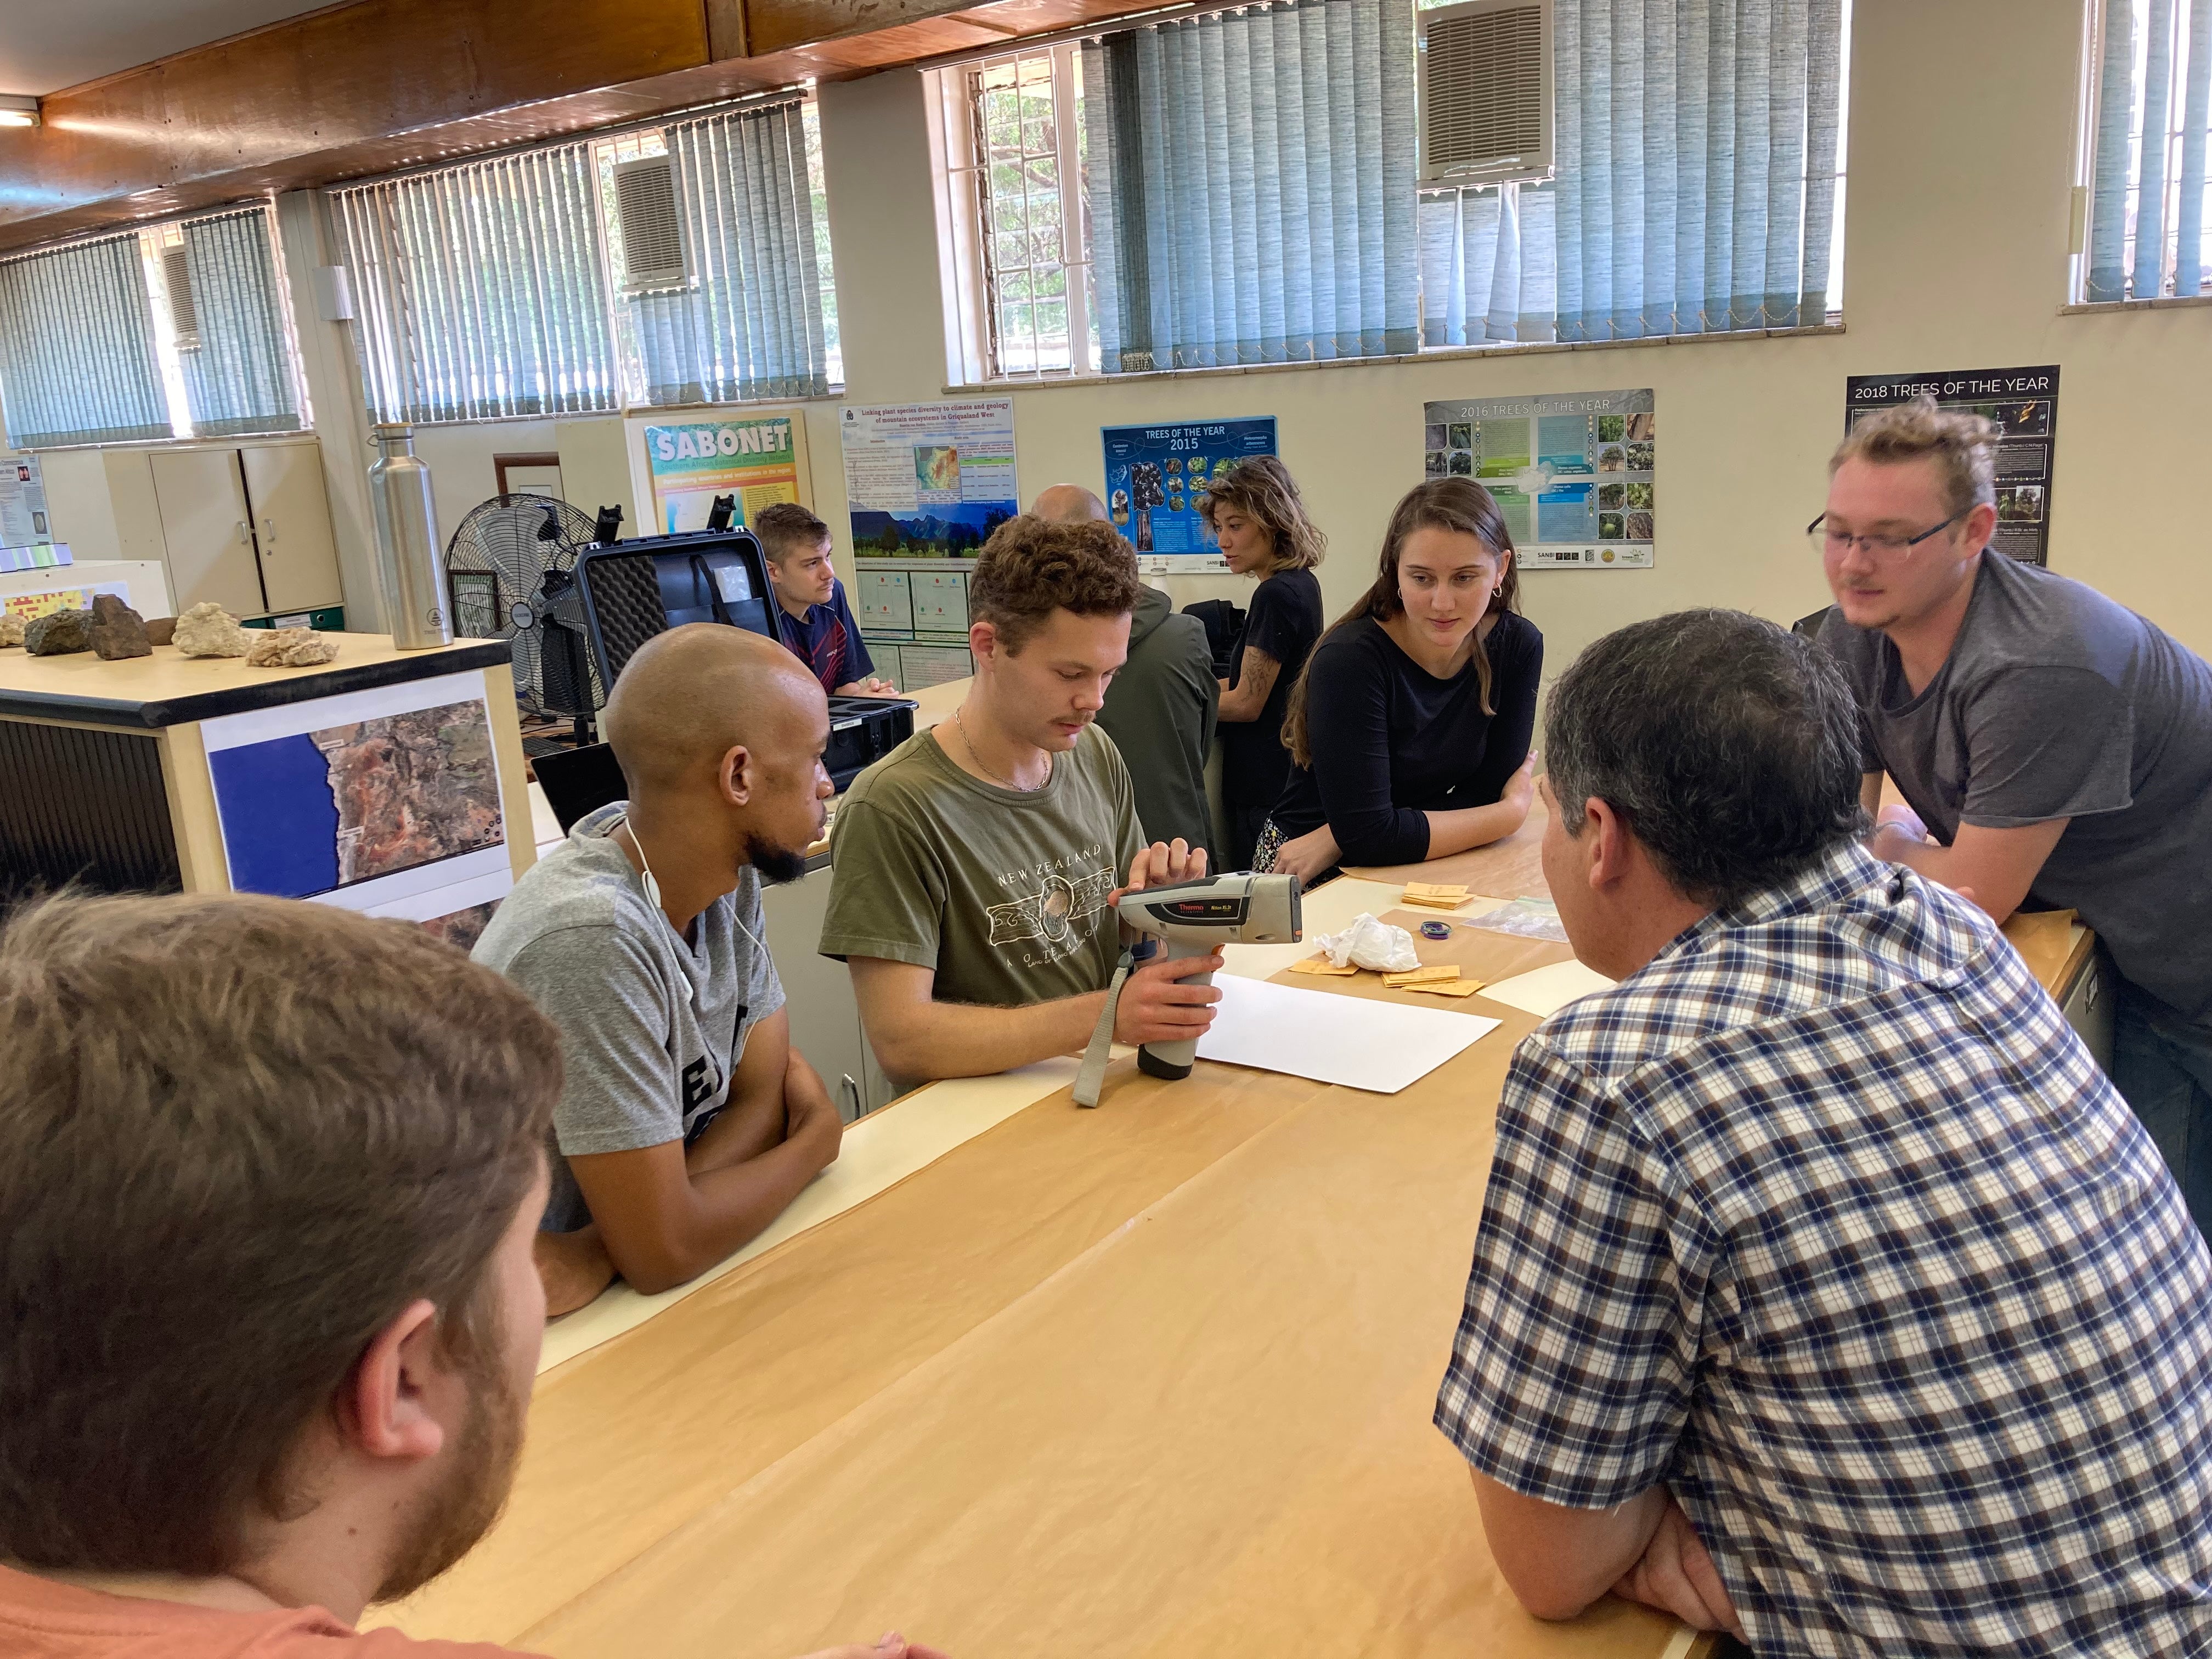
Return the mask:
{"type": "Polygon", "coordinates": [[[697,1279],[783,1214],[841,1124],[790,1046],[761,883],[805,874],[830,703],[792,653],[712,622],[646,641],[608,697],[630,799],[515,883],[476,960],[560,1026],[566,1079],[538,1234],[553,1314],[619,1272],[697,1279]]]}

